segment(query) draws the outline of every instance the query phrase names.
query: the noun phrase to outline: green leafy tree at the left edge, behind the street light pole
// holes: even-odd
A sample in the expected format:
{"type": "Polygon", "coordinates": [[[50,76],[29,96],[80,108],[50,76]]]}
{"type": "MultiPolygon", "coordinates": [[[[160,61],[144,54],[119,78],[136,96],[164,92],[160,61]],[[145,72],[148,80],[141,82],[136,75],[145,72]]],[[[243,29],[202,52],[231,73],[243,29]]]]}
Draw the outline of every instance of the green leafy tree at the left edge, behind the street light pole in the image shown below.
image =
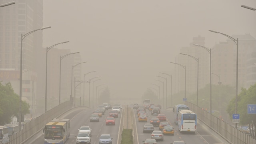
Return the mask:
{"type": "MultiPolygon", "coordinates": [[[[14,93],[12,85],[0,82],[0,125],[9,124],[12,116],[18,116],[20,97],[14,93]]],[[[29,114],[29,104],[22,101],[22,114],[29,114]]]]}

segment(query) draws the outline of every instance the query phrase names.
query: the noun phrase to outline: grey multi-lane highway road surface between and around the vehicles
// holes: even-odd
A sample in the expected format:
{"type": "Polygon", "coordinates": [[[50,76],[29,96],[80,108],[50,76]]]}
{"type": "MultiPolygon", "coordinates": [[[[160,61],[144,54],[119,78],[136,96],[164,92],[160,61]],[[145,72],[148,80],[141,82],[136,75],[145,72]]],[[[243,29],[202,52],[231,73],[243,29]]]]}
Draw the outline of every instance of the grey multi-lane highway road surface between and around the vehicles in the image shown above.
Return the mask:
{"type": "MultiPolygon", "coordinates": [[[[124,127],[124,115],[127,114],[125,111],[127,106],[123,106],[118,118],[116,118],[116,125],[106,126],[105,118],[108,116],[110,110],[106,110],[105,115],[102,115],[100,122],[90,122],[90,114],[92,114],[93,109],[79,107],[73,108],[72,110],[61,115],[59,118],[69,118],[70,119],[70,137],[66,144],[76,144],[76,135],[80,126],[90,126],[92,129],[91,143],[98,144],[98,138],[101,134],[110,134],[112,136],[113,144],[120,144],[122,128],[124,127]]],[[[132,106],[129,106],[132,109],[132,106]]],[[[152,117],[151,112],[146,110],[148,116],[148,123],[152,117]]],[[[197,132],[196,134],[181,134],[178,131],[178,127],[173,122],[172,109],[161,110],[162,113],[166,114],[167,121],[174,126],[174,136],[164,135],[164,141],[158,142],[158,144],[170,144],[174,140],[182,140],[186,144],[215,144],[215,143],[225,143],[225,141],[216,135],[212,130],[207,128],[202,122],[198,120],[197,132]]],[[[143,133],[142,127],[146,122],[138,122],[135,109],[132,111],[132,123],[134,129],[134,144],[142,144],[142,141],[146,138],[150,138],[150,133],[143,133]]],[[[158,130],[158,127],[155,127],[158,130]]],[[[31,138],[26,142],[26,144],[33,143],[43,144],[44,136],[42,132],[39,132],[36,136],[31,138]]]]}

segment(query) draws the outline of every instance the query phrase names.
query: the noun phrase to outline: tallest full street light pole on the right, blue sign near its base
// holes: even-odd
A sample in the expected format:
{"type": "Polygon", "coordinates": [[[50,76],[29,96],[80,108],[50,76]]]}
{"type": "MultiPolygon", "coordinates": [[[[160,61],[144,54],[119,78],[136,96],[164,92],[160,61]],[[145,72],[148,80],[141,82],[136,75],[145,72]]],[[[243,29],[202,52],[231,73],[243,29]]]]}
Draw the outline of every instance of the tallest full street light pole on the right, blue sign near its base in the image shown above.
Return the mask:
{"type": "MultiPolygon", "coordinates": [[[[231,36],[228,36],[226,34],[223,34],[221,32],[216,32],[214,30],[209,30],[210,32],[214,32],[217,34],[222,34],[228,38],[230,38],[235,44],[236,44],[236,108],[235,108],[235,114],[237,114],[237,91],[238,91],[238,38],[234,39],[231,36]]],[[[237,123],[235,123],[235,128],[237,128],[237,123]]]]}

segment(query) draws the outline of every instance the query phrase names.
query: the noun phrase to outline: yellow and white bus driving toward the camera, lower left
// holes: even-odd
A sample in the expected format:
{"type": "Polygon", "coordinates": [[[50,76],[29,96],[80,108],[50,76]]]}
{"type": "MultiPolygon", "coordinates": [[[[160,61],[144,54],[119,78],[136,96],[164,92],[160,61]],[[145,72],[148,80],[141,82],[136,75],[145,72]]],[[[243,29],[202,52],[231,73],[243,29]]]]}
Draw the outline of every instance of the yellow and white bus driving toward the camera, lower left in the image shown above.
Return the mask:
{"type": "Polygon", "coordinates": [[[64,144],[70,136],[69,119],[53,119],[44,126],[44,144],[64,144]]]}

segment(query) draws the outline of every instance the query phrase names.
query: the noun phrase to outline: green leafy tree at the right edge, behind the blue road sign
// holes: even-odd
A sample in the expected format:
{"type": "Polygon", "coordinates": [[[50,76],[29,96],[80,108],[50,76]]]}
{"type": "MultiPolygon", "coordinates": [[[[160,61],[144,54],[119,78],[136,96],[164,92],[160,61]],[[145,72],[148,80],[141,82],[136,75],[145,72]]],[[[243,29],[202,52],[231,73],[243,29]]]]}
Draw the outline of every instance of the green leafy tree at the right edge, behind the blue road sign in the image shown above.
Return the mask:
{"type": "MultiPolygon", "coordinates": [[[[256,138],[256,129],[253,128],[256,126],[256,114],[247,113],[247,105],[256,104],[256,84],[250,86],[248,90],[246,90],[245,88],[242,88],[241,90],[242,91],[238,95],[237,100],[237,113],[240,114],[240,124],[248,125],[251,136],[256,138]]],[[[227,108],[230,118],[232,118],[233,114],[235,114],[235,103],[236,98],[234,97],[232,100],[230,100],[230,103],[227,108]]]]}

